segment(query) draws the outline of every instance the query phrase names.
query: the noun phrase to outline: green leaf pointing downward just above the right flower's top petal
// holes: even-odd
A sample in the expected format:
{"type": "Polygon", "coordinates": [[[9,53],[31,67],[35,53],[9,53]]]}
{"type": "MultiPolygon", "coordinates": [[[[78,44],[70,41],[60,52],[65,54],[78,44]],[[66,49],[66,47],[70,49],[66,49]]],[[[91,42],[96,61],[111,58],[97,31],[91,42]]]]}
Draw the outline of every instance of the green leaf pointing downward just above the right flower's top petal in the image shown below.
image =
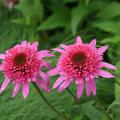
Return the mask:
{"type": "Polygon", "coordinates": [[[88,13],[89,9],[84,5],[79,5],[72,9],[71,29],[74,35],[77,33],[78,25],[82,23],[82,21],[84,20],[88,13]]]}

